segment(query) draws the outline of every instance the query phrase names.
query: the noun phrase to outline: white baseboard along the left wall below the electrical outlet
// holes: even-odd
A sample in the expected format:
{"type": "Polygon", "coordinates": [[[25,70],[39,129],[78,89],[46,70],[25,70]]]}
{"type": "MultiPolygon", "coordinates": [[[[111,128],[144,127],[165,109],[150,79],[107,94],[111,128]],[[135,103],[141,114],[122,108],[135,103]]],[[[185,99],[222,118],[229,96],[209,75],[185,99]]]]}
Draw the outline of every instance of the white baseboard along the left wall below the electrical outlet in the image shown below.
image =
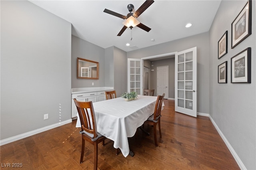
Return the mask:
{"type": "Polygon", "coordinates": [[[66,120],[66,121],[63,121],[63,122],[60,122],[60,123],[56,123],[56,124],[47,126],[47,127],[39,128],[39,129],[36,129],[36,130],[32,130],[30,132],[26,132],[26,133],[23,133],[23,134],[19,134],[17,136],[13,136],[13,137],[10,137],[10,138],[7,138],[7,139],[0,140],[0,146],[2,146],[4,144],[8,144],[10,142],[14,142],[16,140],[26,138],[28,136],[32,136],[34,134],[38,134],[40,132],[44,132],[46,130],[50,130],[52,128],[56,128],[56,127],[60,127],[62,125],[66,125],[66,124],[71,123],[71,122],[72,122],[72,119],[69,119],[69,120],[66,120]]]}

